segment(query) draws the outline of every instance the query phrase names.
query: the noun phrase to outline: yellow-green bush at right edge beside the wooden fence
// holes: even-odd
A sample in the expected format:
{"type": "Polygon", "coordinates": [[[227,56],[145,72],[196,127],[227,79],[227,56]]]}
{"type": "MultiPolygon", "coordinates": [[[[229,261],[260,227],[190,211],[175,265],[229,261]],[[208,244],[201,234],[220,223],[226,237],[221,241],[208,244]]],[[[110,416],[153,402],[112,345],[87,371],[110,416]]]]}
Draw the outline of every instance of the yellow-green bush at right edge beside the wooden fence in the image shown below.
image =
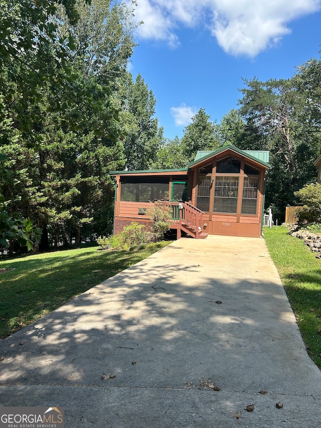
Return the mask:
{"type": "Polygon", "coordinates": [[[321,223],[321,184],[307,184],[294,195],[301,199],[303,205],[297,211],[298,223],[321,223]]]}

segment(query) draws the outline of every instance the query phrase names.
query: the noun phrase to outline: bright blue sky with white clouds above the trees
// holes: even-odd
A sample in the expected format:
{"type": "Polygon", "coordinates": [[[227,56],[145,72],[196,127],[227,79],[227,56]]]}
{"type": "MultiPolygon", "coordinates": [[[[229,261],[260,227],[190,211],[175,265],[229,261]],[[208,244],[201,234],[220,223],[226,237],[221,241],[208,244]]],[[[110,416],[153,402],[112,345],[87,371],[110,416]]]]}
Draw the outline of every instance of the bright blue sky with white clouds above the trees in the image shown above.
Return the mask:
{"type": "Polygon", "coordinates": [[[321,0],[137,0],[135,18],[130,71],[152,90],[168,138],[200,108],[220,122],[242,78],[289,78],[320,58],[321,0]]]}

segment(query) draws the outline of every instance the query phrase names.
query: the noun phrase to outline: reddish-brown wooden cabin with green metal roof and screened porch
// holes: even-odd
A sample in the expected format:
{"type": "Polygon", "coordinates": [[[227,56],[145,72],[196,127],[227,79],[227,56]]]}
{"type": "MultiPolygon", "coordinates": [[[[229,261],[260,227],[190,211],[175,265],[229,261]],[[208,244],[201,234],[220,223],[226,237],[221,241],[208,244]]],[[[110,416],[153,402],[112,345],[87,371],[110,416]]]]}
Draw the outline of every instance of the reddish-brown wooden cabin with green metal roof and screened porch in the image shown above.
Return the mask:
{"type": "Polygon", "coordinates": [[[114,233],[131,222],[151,227],[146,210],[171,209],[171,229],[195,238],[208,234],[260,237],[268,151],[225,146],[198,152],[185,169],[111,171],[115,177],[114,233]]]}

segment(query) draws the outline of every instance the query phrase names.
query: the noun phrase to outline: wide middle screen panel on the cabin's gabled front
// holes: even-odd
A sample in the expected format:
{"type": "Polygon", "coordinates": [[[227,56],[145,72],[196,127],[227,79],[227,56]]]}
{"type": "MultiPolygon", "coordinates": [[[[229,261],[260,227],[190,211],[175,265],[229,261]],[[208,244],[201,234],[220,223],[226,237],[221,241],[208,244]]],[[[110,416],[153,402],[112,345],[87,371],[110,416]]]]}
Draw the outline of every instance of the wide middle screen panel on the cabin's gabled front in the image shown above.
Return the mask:
{"type": "Polygon", "coordinates": [[[238,188],[239,177],[216,176],[213,212],[235,214],[238,188]]]}

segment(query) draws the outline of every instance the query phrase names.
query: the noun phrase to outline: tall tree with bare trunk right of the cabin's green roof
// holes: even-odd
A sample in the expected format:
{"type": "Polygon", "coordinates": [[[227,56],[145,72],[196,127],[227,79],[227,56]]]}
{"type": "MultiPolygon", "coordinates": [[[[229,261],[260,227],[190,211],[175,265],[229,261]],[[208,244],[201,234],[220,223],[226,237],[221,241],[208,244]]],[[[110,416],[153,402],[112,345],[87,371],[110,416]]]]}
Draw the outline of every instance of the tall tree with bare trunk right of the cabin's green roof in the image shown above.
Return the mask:
{"type": "Polygon", "coordinates": [[[270,150],[266,203],[282,220],[285,206],[295,204],[294,192],[315,179],[313,161],[319,155],[320,122],[314,96],[319,62],[298,68],[287,80],[245,80],[240,113],[255,130],[256,150],[270,150]],[[313,82],[313,85],[311,84],[313,82]]]}

